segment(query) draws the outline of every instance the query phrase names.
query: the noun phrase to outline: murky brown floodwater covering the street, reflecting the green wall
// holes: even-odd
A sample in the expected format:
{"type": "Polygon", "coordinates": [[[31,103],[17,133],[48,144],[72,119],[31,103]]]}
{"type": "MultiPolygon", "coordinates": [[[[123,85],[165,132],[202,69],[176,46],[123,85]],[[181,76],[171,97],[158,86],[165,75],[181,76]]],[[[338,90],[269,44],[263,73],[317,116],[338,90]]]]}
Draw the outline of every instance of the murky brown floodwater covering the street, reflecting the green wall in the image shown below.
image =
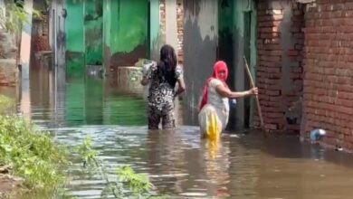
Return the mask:
{"type": "MultiPolygon", "coordinates": [[[[91,136],[100,158],[114,168],[132,166],[148,174],[157,192],[171,198],[351,198],[353,156],[301,143],[299,137],[262,137],[251,131],[224,134],[218,146],[200,139],[198,128],[148,131],[145,101],[121,93],[108,80],[68,79],[52,89],[52,77],[31,71],[30,93],[18,111],[52,131],[70,148],[91,136]]],[[[186,111],[184,109],[183,111],[186,111]]],[[[104,182],[84,175],[73,158],[69,190],[77,198],[100,198],[104,182]]]]}

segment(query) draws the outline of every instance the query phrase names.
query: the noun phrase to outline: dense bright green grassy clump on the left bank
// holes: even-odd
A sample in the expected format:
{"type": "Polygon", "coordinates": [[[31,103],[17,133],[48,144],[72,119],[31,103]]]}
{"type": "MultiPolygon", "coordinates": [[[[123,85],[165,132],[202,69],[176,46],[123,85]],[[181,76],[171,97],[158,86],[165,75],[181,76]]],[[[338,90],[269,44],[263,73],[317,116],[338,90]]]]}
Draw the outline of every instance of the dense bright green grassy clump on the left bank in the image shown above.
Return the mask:
{"type": "Polygon", "coordinates": [[[64,182],[62,166],[69,162],[49,133],[23,118],[0,116],[0,163],[11,166],[29,188],[50,188],[64,182]]]}

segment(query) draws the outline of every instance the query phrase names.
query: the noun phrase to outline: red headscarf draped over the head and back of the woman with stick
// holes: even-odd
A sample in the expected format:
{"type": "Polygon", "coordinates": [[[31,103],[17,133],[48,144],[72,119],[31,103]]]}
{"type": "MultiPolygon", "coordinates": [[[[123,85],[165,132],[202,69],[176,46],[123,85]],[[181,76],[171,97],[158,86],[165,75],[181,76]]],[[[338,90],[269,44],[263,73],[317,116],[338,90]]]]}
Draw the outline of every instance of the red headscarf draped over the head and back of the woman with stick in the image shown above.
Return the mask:
{"type": "Polygon", "coordinates": [[[214,72],[212,74],[212,77],[208,78],[207,81],[205,82],[204,91],[203,91],[203,94],[202,94],[202,100],[201,100],[201,104],[200,104],[200,109],[199,110],[201,110],[205,106],[207,101],[208,101],[208,88],[209,88],[210,81],[212,81],[213,79],[218,79],[218,80],[220,80],[220,81],[222,81],[224,83],[225,87],[228,87],[228,85],[225,82],[225,81],[227,81],[227,78],[228,78],[227,64],[225,62],[223,62],[223,61],[215,62],[214,72]],[[225,71],[224,78],[221,78],[219,76],[220,71],[225,71]]]}

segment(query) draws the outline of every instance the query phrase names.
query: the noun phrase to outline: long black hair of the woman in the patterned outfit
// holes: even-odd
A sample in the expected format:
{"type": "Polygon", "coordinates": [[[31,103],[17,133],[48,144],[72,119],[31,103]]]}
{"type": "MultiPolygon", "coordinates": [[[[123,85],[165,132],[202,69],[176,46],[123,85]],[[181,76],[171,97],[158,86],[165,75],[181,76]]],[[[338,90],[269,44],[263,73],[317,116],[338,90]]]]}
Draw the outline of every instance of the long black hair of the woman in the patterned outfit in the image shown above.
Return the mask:
{"type": "Polygon", "coordinates": [[[159,81],[164,79],[170,86],[176,86],[176,52],[171,45],[165,44],[160,49],[160,60],[157,66],[159,81]]]}

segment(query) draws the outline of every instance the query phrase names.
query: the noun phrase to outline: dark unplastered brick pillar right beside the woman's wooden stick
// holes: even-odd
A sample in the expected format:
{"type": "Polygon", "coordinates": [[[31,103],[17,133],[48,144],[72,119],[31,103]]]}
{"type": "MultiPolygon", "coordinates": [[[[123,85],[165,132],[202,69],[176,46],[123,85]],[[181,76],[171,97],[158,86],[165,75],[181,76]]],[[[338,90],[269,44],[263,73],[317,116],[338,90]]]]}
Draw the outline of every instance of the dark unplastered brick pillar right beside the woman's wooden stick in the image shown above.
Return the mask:
{"type": "Polygon", "coordinates": [[[262,0],[257,7],[257,85],[268,130],[300,130],[303,10],[291,0],[262,0]]]}

